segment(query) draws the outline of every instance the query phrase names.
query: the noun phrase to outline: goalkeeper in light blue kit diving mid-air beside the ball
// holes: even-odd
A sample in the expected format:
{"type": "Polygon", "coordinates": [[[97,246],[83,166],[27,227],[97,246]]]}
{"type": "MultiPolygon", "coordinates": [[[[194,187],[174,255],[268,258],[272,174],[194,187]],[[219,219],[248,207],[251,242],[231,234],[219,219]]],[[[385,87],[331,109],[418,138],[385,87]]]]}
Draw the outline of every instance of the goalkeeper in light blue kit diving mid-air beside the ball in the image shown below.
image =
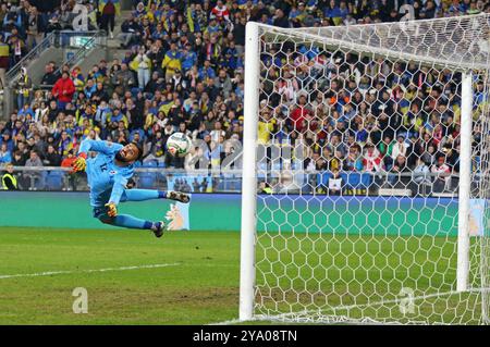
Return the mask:
{"type": "Polygon", "coordinates": [[[118,205],[150,199],[188,202],[189,197],[179,191],[127,189],[126,185],[134,174],[134,163],[142,157],[143,148],[134,142],[122,146],[108,141],[84,140],[73,162],[73,170],[87,173],[94,218],[114,226],[149,230],[155,233],[155,236],[161,237],[170,223],[150,222],[128,214],[118,214],[118,205]],[[89,151],[98,152],[97,157],[87,159],[89,151]]]}

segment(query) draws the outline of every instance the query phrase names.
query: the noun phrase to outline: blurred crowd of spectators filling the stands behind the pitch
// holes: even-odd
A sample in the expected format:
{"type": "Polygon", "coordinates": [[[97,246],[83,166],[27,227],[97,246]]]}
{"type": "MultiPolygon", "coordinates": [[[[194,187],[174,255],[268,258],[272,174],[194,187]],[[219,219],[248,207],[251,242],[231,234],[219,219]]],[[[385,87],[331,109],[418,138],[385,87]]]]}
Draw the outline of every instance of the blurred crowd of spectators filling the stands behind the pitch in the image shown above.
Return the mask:
{"type": "MultiPolygon", "coordinates": [[[[9,48],[0,74],[68,21],[74,5],[38,13],[28,1],[13,2],[0,10],[0,45],[9,48]]],[[[471,0],[135,1],[118,37],[127,50],[122,60],[90,71],[61,66],[58,74],[51,62],[41,80],[50,90],[32,89],[23,72],[19,110],[0,122],[0,165],[70,166],[79,142],[94,138],[140,142],[143,164],[203,169],[204,156],[219,166],[242,140],[247,21],[281,27],[394,22],[404,4],[417,20],[490,9],[471,0]],[[200,140],[193,154],[167,156],[174,132],[200,140]]],[[[86,5],[90,25],[112,35],[118,3],[86,5]]],[[[306,47],[267,49],[260,57],[262,144],[301,140],[310,171],[458,171],[460,75],[306,47]]],[[[475,88],[477,109],[488,96],[482,80],[475,88]]]]}

